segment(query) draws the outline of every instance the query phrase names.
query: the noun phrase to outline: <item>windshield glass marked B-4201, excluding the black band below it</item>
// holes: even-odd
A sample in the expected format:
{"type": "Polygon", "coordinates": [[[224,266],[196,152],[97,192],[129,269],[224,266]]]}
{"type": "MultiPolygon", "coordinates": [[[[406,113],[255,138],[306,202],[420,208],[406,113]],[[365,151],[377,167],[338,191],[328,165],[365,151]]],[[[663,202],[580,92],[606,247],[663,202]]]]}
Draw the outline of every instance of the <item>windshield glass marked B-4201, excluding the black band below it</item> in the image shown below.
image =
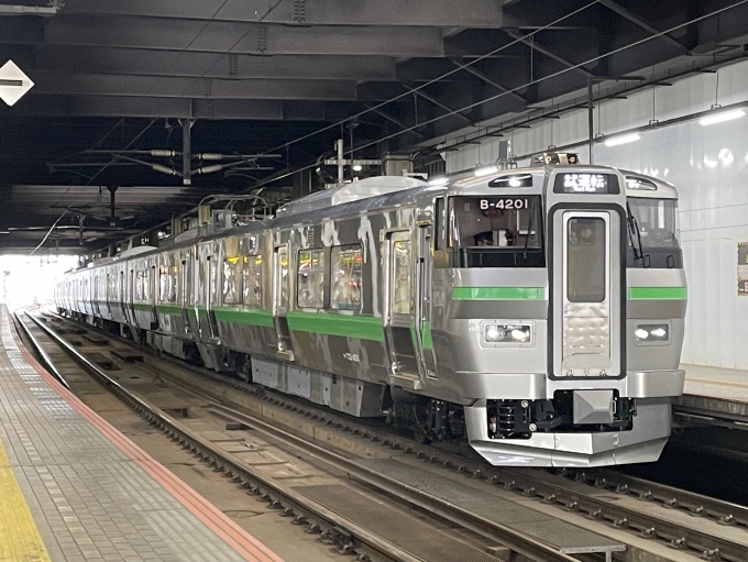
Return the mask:
{"type": "Polygon", "coordinates": [[[451,197],[450,245],[537,250],[540,196],[451,197]]]}

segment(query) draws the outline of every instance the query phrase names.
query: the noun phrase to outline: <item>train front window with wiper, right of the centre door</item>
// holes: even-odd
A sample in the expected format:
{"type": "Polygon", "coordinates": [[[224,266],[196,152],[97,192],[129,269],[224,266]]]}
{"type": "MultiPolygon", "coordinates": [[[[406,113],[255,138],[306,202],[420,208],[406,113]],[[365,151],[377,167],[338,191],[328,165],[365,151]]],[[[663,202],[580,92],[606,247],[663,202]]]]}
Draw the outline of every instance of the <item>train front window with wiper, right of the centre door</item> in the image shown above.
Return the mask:
{"type": "Polygon", "coordinates": [[[629,197],[628,266],[682,267],[678,242],[678,201],[629,197]]]}

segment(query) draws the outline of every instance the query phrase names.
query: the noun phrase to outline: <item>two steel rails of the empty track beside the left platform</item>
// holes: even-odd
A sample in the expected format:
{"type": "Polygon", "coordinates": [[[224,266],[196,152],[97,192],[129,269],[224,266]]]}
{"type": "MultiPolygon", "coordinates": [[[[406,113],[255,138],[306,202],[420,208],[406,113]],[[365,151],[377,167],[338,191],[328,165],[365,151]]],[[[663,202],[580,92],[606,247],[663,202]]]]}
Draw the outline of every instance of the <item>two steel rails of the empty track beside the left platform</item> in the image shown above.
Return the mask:
{"type": "MultiPolygon", "coordinates": [[[[169,438],[178,441],[195,454],[199,455],[213,466],[216,471],[223,472],[227,476],[232,477],[238,484],[248,487],[250,494],[256,495],[261,499],[268,502],[271,505],[282,510],[284,515],[293,517],[296,524],[306,525],[309,530],[315,532],[321,530],[321,532],[331,541],[339,543],[341,551],[359,553],[361,560],[367,560],[367,558],[364,558],[367,555],[374,557],[377,560],[384,559],[397,562],[415,562],[416,560],[419,560],[408,552],[397,549],[387,540],[387,538],[376,536],[367,529],[352,524],[349,519],[341,518],[336,513],[310,500],[300,493],[294,493],[293,489],[277,485],[272,480],[264,477],[262,474],[238,461],[233,455],[213,447],[209,441],[196,436],[184,423],[160,410],[146,399],[124,388],[112,377],[108,376],[69,343],[65,342],[65,340],[57,335],[52,329],[46,327],[44,322],[38,321],[31,315],[26,316],[33,320],[47,337],[63,346],[66,353],[80,363],[89,374],[107,386],[109,390],[128,404],[132,409],[136,410],[141,416],[158,427],[169,438]]],[[[25,326],[23,319],[19,318],[19,321],[21,324],[25,326]]],[[[35,337],[34,339],[38,340],[38,337],[35,337]]],[[[36,343],[38,343],[38,341],[36,341],[36,343]]],[[[346,460],[340,454],[327,451],[323,448],[306,442],[292,433],[273,428],[262,420],[253,419],[240,411],[227,408],[217,403],[211,404],[210,406],[211,408],[222,410],[224,417],[230,416],[243,423],[251,423],[253,428],[272,437],[274,440],[284,441],[289,447],[299,450],[301,454],[305,454],[306,456],[311,455],[331,467],[345,472],[352,478],[365,483],[367,486],[380,493],[392,497],[398,497],[402,502],[406,502],[411,507],[428,510],[438,516],[438,518],[449,521],[451,525],[459,526],[460,528],[481,535],[486,539],[491,539],[495,544],[503,544],[512,552],[520,554],[527,560],[538,562],[575,561],[575,559],[569,554],[560,552],[532,538],[526,537],[514,529],[483,519],[475,514],[461,511],[455,506],[449,505],[447,502],[436,496],[429,496],[428,494],[409,489],[407,486],[403,486],[397,481],[389,478],[386,474],[356,466],[355,463],[346,460]]]]}

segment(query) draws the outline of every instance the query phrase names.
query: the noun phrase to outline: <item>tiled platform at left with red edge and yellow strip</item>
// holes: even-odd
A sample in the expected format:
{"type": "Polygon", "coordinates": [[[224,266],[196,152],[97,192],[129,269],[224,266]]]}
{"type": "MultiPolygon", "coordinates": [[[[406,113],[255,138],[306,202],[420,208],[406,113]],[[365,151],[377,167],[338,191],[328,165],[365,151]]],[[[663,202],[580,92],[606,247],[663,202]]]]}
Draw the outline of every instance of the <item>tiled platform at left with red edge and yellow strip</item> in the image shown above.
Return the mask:
{"type": "Polygon", "coordinates": [[[0,561],[280,561],[0,340],[0,561]]]}

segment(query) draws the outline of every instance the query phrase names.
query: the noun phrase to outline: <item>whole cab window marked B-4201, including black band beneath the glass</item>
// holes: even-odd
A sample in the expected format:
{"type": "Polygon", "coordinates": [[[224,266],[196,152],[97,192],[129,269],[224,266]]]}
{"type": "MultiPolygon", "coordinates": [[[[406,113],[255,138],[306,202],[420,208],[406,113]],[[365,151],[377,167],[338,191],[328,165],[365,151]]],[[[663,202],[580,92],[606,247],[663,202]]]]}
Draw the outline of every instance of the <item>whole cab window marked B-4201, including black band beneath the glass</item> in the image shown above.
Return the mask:
{"type": "Polygon", "coordinates": [[[539,196],[449,200],[452,267],[543,267],[539,196]]]}

